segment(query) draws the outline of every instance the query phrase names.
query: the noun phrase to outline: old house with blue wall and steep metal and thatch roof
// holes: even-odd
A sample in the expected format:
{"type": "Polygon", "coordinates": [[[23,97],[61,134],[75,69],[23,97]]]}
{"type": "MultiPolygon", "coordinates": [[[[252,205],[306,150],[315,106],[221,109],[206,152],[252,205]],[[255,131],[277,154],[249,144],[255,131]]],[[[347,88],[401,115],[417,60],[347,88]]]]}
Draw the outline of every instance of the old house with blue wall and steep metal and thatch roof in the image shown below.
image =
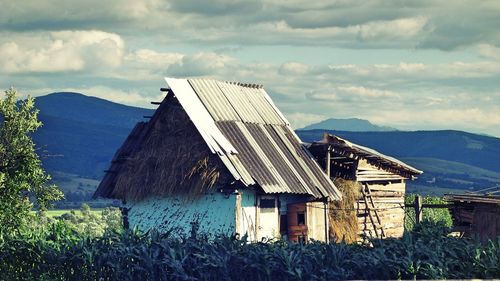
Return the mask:
{"type": "Polygon", "coordinates": [[[327,202],[341,195],[262,86],[166,82],[94,197],[122,199],[142,230],[328,239],[327,202]]]}

